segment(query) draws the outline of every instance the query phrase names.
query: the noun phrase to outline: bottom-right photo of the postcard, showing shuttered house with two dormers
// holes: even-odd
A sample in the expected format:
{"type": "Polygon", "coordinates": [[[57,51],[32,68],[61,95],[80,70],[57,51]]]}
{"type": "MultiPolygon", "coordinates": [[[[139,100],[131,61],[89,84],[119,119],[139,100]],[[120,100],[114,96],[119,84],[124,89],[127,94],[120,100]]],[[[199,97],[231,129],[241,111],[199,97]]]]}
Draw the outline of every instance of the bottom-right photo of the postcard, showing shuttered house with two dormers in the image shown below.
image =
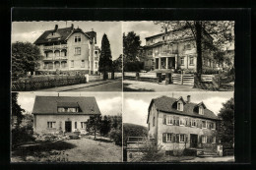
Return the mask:
{"type": "Polygon", "coordinates": [[[234,162],[233,91],[123,97],[124,162],[234,162]]]}

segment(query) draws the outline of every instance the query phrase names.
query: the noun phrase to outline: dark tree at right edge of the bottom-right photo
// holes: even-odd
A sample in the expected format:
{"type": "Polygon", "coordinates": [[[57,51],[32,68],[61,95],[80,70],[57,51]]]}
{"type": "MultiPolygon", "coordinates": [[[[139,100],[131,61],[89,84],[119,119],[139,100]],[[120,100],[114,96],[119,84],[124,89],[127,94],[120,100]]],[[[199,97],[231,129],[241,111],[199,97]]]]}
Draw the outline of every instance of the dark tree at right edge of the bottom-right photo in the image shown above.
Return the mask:
{"type": "Polygon", "coordinates": [[[223,143],[231,146],[234,142],[234,100],[233,97],[223,103],[218,117],[221,122],[218,126],[218,137],[223,143]]]}

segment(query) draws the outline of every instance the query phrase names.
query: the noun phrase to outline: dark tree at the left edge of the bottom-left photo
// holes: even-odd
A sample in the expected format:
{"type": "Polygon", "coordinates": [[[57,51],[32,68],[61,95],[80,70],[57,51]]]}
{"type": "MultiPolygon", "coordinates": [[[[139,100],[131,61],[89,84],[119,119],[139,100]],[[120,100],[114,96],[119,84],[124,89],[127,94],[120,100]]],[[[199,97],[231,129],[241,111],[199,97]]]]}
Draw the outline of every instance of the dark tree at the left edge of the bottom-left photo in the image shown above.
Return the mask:
{"type": "Polygon", "coordinates": [[[19,128],[23,119],[23,112],[25,111],[21,108],[21,105],[18,104],[18,92],[12,92],[12,125],[13,128],[19,128]],[[15,124],[15,122],[17,123],[15,124]]]}

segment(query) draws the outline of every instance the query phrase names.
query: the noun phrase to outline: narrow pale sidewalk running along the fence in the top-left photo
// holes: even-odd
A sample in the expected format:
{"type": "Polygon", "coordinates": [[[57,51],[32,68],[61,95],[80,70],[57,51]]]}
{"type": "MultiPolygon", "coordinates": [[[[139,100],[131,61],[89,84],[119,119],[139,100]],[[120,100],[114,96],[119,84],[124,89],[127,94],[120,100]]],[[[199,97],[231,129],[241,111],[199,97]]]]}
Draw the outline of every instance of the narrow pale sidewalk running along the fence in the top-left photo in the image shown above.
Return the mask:
{"type": "Polygon", "coordinates": [[[68,86],[59,86],[59,87],[53,87],[53,88],[45,88],[45,89],[38,89],[37,91],[56,91],[56,92],[61,92],[61,91],[69,91],[69,90],[85,88],[85,87],[91,87],[91,86],[96,86],[96,85],[105,85],[105,84],[109,84],[109,83],[113,83],[113,82],[118,82],[118,81],[121,81],[121,79],[97,81],[97,82],[92,82],[92,83],[88,83],[88,84],[68,85],[68,86]]]}

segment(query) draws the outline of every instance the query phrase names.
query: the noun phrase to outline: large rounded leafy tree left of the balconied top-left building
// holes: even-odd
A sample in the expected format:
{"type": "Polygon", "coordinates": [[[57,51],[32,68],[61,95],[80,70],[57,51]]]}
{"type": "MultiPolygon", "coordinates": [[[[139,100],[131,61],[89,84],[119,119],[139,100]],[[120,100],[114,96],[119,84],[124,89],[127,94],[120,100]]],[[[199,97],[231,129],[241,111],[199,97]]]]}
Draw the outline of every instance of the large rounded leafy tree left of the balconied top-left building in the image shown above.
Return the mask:
{"type": "Polygon", "coordinates": [[[24,77],[35,71],[41,57],[39,48],[30,42],[12,43],[12,76],[24,77]]]}

